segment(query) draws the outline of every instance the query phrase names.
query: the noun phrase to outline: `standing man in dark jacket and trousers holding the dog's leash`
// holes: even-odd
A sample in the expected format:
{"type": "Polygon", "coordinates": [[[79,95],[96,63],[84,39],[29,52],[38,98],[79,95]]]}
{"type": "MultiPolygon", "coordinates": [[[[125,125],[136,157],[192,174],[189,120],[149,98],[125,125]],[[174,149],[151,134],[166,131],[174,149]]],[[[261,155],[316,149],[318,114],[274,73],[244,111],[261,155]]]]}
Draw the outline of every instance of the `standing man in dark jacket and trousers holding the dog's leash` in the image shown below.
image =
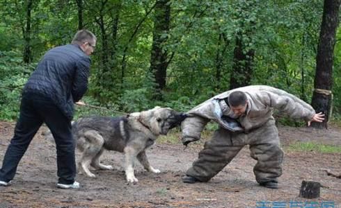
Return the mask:
{"type": "Polygon", "coordinates": [[[7,186],[13,180],[20,159],[45,122],[56,142],[57,187],[79,188],[79,183],[74,180],[75,141],[72,138],[71,121],[74,103],[88,89],[89,55],[93,53],[95,45],[95,35],[81,30],[74,35],[71,44],[49,50],[40,60],[22,92],[14,137],[0,169],[0,185],[7,186]]]}

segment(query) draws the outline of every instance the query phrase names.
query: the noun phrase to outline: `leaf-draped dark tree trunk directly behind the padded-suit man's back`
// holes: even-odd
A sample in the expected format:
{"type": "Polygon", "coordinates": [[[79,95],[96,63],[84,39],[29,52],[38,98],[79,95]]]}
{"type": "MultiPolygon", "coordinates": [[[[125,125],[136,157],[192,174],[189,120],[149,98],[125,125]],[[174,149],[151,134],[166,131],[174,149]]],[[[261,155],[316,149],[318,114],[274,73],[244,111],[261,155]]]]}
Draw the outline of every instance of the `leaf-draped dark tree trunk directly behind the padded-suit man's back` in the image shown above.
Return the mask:
{"type": "Polygon", "coordinates": [[[244,43],[241,40],[241,35],[237,35],[233,56],[233,69],[230,75],[230,89],[251,84],[255,51],[252,49],[246,51],[246,53],[244,51],[244,43]]]}

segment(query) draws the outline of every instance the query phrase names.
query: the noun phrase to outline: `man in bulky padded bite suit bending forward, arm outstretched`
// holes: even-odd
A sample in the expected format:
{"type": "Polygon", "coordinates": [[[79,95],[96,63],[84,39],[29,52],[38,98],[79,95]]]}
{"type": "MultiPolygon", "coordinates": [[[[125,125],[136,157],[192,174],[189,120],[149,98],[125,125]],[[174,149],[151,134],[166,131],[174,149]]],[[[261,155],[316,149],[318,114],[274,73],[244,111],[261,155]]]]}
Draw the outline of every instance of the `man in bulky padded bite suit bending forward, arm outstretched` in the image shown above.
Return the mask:
{"type": "Polygon", "coordinates": [[[182,143],[200,139],[208,121],[219,123],[210,141],[182,179],[185,183],[207,182],[219,173],[245,145],[257,160],[253,168],[262,187],[278,189],[282,175],[283,150],[273,119],[273,109],[293,119],[324,121],[324,114],[315,113],[308,104],[281,89],[251,85],[223,92],[188,112],[182,122],[182,143]]]}

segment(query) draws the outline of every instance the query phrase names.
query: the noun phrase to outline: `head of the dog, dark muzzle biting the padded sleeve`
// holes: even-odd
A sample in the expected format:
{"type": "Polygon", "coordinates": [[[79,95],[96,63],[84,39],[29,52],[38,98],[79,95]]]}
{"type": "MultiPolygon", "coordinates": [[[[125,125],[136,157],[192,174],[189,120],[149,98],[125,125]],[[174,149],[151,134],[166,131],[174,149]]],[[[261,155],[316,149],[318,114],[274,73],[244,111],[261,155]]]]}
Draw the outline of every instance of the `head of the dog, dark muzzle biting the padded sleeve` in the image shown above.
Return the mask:
{"type": "Polygon", "coordinates": [[[187,114],[177,112],[169,107],[157,106],[141,112],[140,117],[155,135],[166,135],[170,129],[180,125],[187,118],[187,114]]]}

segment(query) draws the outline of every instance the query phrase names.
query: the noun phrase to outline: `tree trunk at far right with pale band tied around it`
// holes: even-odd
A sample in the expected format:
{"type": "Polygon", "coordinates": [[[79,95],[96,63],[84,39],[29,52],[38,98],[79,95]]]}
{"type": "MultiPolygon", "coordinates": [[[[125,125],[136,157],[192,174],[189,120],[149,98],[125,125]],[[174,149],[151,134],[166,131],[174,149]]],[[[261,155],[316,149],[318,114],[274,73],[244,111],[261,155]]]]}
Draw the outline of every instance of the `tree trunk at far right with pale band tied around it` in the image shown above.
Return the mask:
{"type": "Polygon", "coordinates": [[[327,128],[331,110],[331,89],[333,87],[333,51],[335,34],[338,28],[340,0],[324,0],[319,46],[317,48],[316,73],[312,94],[312,107],[316,112],[323,112],[325,120],[322,123],[313,122],[314,128],[327,128]]]}

